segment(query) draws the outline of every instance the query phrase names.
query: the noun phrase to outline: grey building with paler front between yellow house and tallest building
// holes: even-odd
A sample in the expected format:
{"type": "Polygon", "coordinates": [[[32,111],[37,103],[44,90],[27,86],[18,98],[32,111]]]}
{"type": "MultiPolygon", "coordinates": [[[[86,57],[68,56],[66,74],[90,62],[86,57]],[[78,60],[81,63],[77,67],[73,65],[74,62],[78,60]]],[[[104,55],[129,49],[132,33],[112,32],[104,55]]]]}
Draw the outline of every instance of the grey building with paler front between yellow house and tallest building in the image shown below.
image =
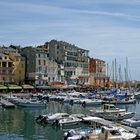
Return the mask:
{"type": "Polygon", "coordinates": [[[25,47],[21,54],[26,58],[26,80],[35,86],[45,86],[57,81],[58,65],[49,59],[48,53],[40,47],[25,47]]]}

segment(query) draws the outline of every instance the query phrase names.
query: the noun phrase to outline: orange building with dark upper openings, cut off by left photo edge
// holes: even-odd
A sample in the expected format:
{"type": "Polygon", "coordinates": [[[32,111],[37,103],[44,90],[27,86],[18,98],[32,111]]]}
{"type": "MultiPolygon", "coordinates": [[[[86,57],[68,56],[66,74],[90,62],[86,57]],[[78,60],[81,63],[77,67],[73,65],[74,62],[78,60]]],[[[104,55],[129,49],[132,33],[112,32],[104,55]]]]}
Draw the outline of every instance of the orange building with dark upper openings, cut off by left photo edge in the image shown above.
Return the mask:
{"type": "Polygon", "coordinates": [[[14,62],[6,53],[0,53],[0,83],[14,82],[14,62]]]}

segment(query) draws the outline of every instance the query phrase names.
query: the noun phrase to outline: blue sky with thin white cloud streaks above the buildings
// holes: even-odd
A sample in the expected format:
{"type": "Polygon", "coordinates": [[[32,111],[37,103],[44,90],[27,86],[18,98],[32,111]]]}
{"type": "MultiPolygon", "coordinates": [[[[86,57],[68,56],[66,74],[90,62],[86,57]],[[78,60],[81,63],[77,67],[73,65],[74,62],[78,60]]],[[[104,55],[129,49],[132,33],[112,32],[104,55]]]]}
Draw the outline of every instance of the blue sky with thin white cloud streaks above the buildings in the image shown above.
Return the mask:
{"type": "Polygon", "coordinates": [[[0,45],[63,40],[140,80],[140,0],[0,0],[0,45]]]}

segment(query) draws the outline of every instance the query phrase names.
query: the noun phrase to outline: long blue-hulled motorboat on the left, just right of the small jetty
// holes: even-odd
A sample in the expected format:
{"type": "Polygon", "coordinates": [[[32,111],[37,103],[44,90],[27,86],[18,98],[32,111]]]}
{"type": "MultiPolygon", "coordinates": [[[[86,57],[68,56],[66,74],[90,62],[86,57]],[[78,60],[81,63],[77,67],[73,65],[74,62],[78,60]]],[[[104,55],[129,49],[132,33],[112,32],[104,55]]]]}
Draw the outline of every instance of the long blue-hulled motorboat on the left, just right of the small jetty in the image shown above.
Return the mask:
{"type": "Polygon", "coordinates": [[[20,99],[18,100],[17,105],[21,107],[36,108],[36,107],[46,107],[47,102],[38,101],[37,99],[20,99]]]}

